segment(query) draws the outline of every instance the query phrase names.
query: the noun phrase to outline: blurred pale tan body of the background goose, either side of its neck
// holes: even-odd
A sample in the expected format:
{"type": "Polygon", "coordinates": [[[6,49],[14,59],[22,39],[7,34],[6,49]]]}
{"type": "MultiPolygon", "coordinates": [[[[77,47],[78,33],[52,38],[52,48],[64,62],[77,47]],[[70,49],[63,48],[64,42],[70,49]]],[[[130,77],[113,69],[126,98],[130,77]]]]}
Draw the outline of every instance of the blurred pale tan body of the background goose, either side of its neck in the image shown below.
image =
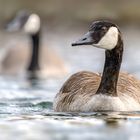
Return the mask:
{"type": "MultiPolygon", "coordinates": [[[[63,60],[52,49],[45,46],[40,48],[39,64],[43,76],[62,76],[67,72],[63,60]]],[[[1,63],[0,73],[17,75],[26,71],[30,59],[31,48],[29,46],[18,45],[9,48],[1,63]]]]}

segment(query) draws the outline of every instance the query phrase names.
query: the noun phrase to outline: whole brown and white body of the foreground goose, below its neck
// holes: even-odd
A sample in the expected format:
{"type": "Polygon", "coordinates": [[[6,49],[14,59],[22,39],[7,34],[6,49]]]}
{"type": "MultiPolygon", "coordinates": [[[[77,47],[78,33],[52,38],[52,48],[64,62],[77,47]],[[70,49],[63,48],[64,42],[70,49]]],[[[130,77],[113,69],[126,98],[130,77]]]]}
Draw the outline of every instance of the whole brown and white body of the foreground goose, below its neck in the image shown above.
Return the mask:
{"type": "Polygon", "coordinates": [[[128,73],[120,73],[117,86],[118,97],[95,95],[100,80],[100,75],[87,71],[72,75],[56,95],[54,110],[92,112],[97,110],[137,111],[140,109],[140,94],[137,94],[140,93],[140,82],[135,77],[128,73]],[[95,105],[99,106],[98,109],[97,106],[94,109],[95,105]]]}

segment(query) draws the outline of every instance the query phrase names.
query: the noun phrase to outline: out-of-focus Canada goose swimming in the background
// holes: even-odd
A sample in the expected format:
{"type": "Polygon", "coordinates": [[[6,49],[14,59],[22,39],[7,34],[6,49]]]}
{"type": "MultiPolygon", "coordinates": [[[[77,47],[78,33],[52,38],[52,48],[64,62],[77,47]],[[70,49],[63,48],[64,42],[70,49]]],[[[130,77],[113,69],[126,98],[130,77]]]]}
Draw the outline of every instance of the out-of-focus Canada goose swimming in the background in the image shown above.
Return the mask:
{"type": "Polygon", "coordinates": [[[35,13],[20,11],[6,26],[7,31],[23,30],[31,39],[32,47],[11,47],[2,61],[2,73],[17,74],[26,69],[39,76],[62,76],[66,67],[53,49],[40,45],[41,20],[35,13]],[[29,51],[31,49],[31,51],[29,51]],[[41,72],[41,73],[40,73],[41,72]]]}

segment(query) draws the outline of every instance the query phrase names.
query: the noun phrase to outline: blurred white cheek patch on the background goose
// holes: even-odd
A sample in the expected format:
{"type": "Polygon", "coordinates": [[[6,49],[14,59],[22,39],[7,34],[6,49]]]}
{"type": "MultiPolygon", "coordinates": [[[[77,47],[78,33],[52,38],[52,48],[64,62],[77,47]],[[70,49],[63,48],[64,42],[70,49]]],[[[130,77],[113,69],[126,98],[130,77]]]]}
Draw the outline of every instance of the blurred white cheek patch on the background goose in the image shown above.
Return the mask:
{"type": "Polygon", "coordinates": [[[40,29],[40,18],[36,14],[29,16],[27,22],[24,25],[24,31],[26,33],[35,34],[40,29]]]}

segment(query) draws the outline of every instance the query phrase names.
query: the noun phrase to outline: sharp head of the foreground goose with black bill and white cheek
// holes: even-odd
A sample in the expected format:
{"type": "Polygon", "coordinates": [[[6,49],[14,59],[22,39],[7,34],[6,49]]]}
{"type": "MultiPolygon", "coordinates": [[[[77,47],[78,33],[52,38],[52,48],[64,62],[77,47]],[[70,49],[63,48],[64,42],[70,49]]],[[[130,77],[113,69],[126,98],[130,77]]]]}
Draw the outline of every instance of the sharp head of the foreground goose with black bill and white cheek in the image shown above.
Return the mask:
{"type": "Polygon", "coordinates": [[[108,21],[95,21],[89,31],[72,46],[93,45],[98,48],[112,50],[118,43],[120,31],[118,27],[108,21]]]}

